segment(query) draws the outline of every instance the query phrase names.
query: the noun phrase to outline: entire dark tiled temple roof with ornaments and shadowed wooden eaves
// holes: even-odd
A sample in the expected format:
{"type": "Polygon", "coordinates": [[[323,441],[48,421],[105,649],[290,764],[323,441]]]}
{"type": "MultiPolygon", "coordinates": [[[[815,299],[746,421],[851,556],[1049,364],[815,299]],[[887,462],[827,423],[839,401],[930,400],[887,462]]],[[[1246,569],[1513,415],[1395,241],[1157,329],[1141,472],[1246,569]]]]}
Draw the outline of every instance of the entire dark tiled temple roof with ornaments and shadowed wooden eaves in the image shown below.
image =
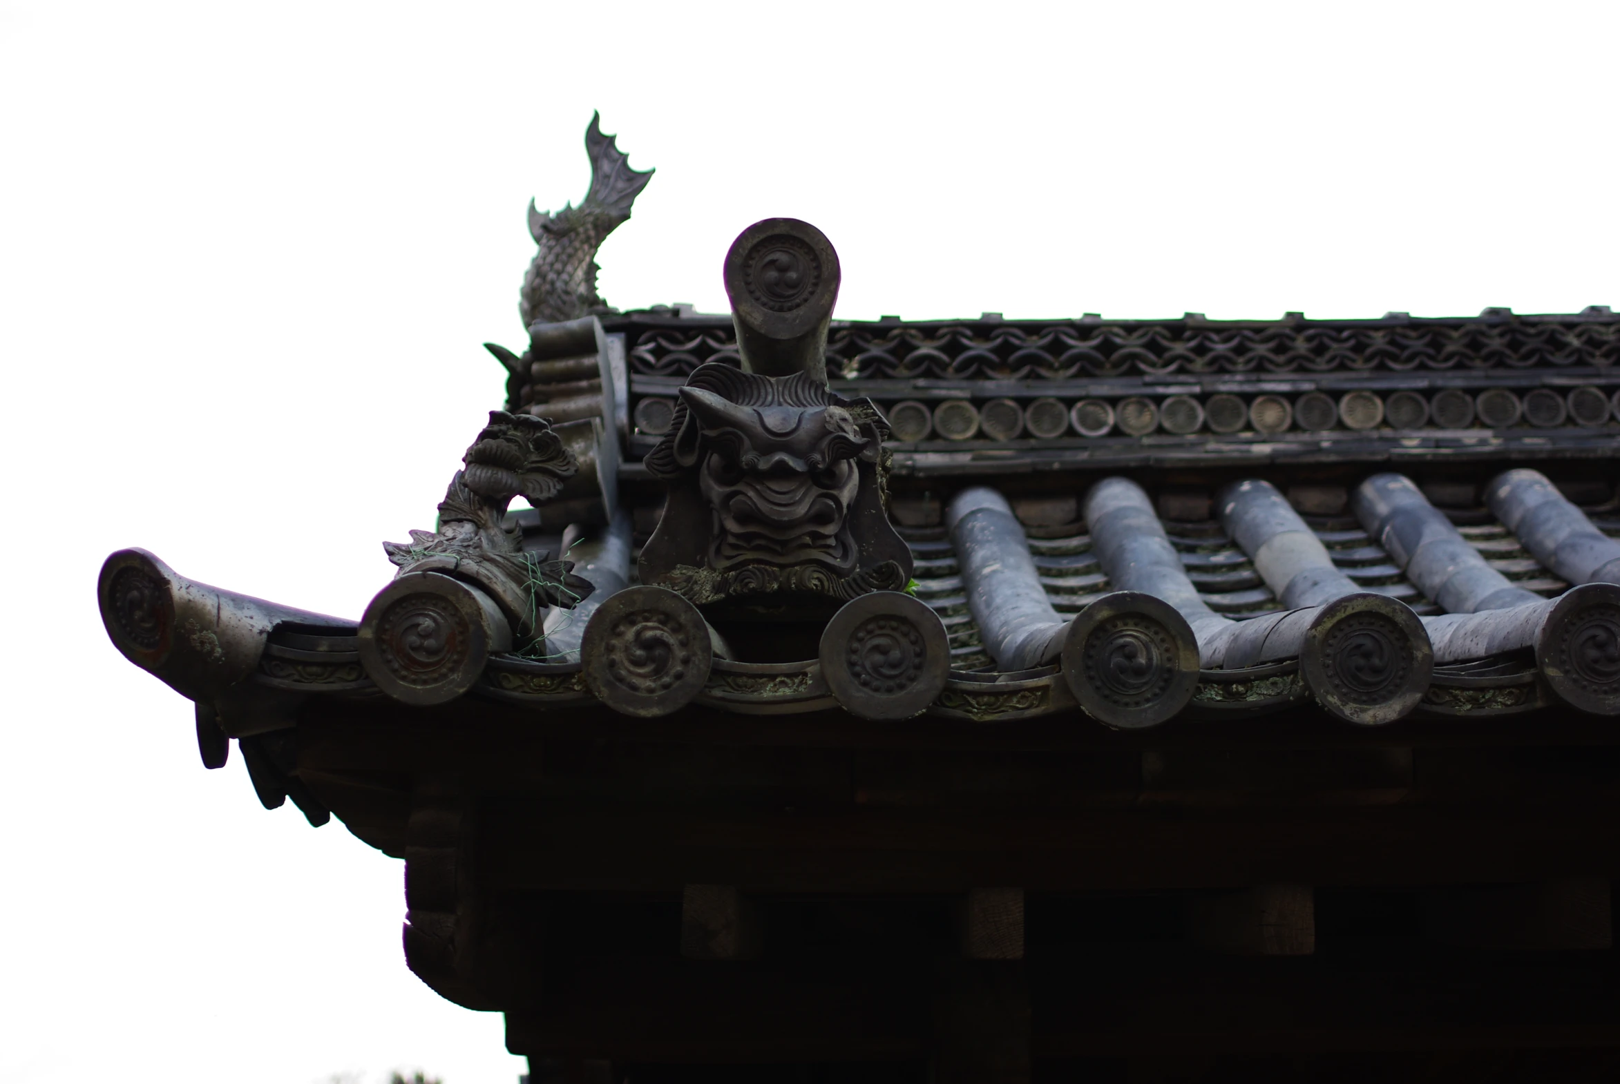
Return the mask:
{"type": "Polygon", "coordinates": [[[100,578],[423,982],[533,1081],[1620,1074],[1614,314],[833,320],[789,218],[619,312],[586,146],[358,621],[100,578]]]}

